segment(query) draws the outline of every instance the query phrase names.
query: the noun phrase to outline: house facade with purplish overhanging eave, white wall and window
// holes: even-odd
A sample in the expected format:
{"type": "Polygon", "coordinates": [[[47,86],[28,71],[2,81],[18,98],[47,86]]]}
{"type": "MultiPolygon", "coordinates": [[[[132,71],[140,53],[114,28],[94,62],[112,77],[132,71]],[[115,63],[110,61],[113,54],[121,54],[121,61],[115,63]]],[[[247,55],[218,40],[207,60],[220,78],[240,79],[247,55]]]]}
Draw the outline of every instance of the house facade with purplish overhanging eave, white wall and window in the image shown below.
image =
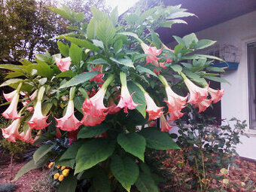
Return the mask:
{"type": "MultiPolygon", "coordinates": [[[[221,118],[236,117],[246,120],[247,138],[241,136],[242,144],[236,151],[241,157],[256,160],[256,1],[163,1],[165,5],[181,4],[197,15],[188,18],[187,26],[172,26],[169,31],[159,31],[160,38],[172,49],[175,42],[171,35],[184,36],[195,32],[198,39],[217,41],[217,46],[236,47],[238,69],[227,70],[222,78],[230,84],[221,83],[224,96],[221,99],[221,118]],[[193,4],[192,4],[193,2],[193,4]]],[[[216,47],[216,46],[215,46],[216,47]]],[[[212,47],[214,51],[215,47],[212,47]]],[[[210,47],[211,49],[211,47],[210,47]]]]}

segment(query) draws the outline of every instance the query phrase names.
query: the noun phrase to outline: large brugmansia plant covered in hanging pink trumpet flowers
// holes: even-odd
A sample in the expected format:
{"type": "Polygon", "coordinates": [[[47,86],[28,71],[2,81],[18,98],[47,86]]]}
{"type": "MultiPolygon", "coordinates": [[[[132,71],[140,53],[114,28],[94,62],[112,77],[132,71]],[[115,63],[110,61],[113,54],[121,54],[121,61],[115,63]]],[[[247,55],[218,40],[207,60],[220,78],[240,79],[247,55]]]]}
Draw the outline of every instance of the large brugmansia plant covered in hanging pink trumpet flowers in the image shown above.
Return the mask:
{"type": "Polygon", "coordinates": [[[213,66],[218,58],[194,53],[215,41],[199,41],[194,33],[174,36],[174,50],[160,41],[155,29],[194,15],[180,5],[138,8],[122,19],[117,8],[110,15],[91,8],[90,23],[66,7],[50,9],[73,31],[56,37],[60,53],[0,66],[12,71],[1,87],[15,89],[5,94],[10,105],[2,115],[12,122],[2,135],[40,146],[15,179],[54,159],[69,167],[59,191],[75,191],[82,181],[88,191],[159,191],[145,156],[179,148],[168,120],[191,107],[205,111],[224,93],[206,81],[224,82],[218,77],[223,69],[213,66]],[[67,139],[69,145],[62,145],[67,139]]]}

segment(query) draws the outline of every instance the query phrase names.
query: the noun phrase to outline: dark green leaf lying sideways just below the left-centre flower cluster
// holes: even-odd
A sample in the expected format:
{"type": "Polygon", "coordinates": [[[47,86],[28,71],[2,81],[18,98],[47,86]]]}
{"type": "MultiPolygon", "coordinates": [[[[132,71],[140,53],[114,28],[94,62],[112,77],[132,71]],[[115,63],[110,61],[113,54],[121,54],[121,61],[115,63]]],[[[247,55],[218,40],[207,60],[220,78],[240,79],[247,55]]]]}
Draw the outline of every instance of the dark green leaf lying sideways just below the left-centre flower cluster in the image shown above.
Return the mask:
{"type": "Polygon", "coordinates": [[[96,126],[84,126],[78,133],[78,139],[93,138],[105,133],[111,127],[106,123],[101,123],[96,126]]]}

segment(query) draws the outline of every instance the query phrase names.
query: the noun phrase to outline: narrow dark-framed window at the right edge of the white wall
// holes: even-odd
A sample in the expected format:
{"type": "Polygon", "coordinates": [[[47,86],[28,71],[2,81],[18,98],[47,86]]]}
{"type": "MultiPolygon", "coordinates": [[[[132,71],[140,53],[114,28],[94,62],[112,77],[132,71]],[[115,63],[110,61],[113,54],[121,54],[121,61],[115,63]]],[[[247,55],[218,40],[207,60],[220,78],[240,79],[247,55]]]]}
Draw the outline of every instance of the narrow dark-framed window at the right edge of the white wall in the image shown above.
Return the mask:
{"type": "Polygon", "coordinates": [[[256,42],[247,45],[250,129],[256,130],[256,42]]]}

